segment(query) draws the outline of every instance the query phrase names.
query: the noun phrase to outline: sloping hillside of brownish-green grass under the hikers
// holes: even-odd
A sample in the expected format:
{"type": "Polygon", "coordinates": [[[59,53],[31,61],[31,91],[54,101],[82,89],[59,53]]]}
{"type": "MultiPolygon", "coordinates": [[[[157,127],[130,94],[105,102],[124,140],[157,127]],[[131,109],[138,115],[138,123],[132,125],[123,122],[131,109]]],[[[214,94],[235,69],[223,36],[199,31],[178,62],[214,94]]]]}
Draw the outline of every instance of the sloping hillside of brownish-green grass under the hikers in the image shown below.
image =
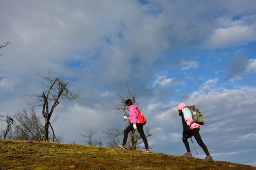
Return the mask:
{"type": "Polygon", "coordinates": [[[256,170],[164,153],[77,144],[0,140],[0,170],[256,170]]]}

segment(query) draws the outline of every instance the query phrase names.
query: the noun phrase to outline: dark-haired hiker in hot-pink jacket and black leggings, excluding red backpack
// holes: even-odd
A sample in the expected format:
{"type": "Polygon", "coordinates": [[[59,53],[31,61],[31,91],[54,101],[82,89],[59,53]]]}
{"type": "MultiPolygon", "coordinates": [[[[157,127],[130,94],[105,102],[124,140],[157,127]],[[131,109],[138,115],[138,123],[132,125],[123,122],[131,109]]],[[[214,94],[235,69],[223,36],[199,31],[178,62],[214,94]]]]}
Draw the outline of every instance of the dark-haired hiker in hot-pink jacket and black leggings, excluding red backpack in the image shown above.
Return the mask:
{"type": "Polygon", "coordinates": [[[117,145],[119,148],[125,149],[125,144],[128,138],[128,133],[134,129],[138,130],[138,133],[140,135],[140,137],[142,138],[144,144],[145,144],[145,148],[143,150],[141,150],[142,152],[150,152],[148,149],[148,144],[147,144],[147,139],[146,136],[144,134],[144,130],[143,130],[143,125],[140,123],[140,121],[137,119],[138,115],[137,115],[137,108],[138,106],[133,105],[133,102],[128,99],[125,102],[126,106],[129,109],[129,117],[124,116],[124,119],[130,120],[131,124],[124,130],[124,139],[123,139],[123,143],[117,145]]]}

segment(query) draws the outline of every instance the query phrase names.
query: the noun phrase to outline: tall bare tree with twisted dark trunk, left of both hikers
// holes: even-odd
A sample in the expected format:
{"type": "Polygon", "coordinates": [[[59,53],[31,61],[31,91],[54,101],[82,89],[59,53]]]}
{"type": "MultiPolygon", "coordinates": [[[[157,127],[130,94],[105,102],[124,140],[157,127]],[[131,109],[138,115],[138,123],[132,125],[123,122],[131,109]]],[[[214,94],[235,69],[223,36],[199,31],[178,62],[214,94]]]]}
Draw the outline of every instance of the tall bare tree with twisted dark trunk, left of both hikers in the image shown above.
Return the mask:
{"type": "MultiPolygon", "coordinates": [[[[64,81],[60,76],[55,77],[51,75],[51,72],[48,71],[48,74],[41,76],[38,74],[46,84],[43,83],[44,91],[39,94],[30,95],[36,98],[36,102],[29,103],[37,106],[42,106],[42,115],[45,118],[45,127],[44,127],[44,141],[49,141],[49,126],[50,119],[54,112],[55,107],[60,103],[61,100],[73,101],[79,98],[79,94],[73,93],[69,90],[69,85],[74,81],[64,81]]],[[[53,130],[53,128],[52,128],[53,130]]]]}

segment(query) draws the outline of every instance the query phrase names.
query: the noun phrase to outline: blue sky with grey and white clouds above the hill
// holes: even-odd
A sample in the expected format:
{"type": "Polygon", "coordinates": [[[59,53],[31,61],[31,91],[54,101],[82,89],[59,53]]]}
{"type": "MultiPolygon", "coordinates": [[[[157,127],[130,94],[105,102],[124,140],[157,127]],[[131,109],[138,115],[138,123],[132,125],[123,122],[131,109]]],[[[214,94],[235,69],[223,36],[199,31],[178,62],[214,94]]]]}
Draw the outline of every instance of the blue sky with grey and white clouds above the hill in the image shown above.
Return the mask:
{"type": "MultiPolygon", "coordinates": [[[[29,95],[43,91],[38,74],[50,70],[76,79],[70,90],[86,99],[56,107],[63,143],[86,144],[78,134],[93,130],[107,146],[102,130],[124,128],[114,108],[129,87],[151,127],[151,152],[186,153],[183,102],[205,116],[200,134],[214,160],[256,166],[255,7],[256,0],[0,0],[0,43],[10,41],[0,50],[0,115],[31,107],[29,95]]],[[[192,139],[192,156],[205,158],[192,139]]]]}

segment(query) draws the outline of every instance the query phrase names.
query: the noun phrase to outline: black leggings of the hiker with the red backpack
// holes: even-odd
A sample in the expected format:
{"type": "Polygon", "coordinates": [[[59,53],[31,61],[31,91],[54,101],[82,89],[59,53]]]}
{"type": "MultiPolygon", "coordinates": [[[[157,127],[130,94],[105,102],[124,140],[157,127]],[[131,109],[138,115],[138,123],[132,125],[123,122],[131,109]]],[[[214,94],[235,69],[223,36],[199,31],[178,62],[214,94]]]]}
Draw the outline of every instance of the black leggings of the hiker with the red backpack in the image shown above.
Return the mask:
{"type": "MultiPolygon", "coordinates": [[[[136,123],[137,126],[137,130],[139,132],[140,137],[142,138],[144,144],[145,144],[145,148],[148,149],[148,144],[147,144],[147,140],[146,140],[146,136],[144,134],[144,130],[143,130],[143,125],[141,123],[136,123]]],[[[133,128],[133,124],[130,124],[124,131],[124,139],[123,139],[123,145],[126,144],[127,138],[128,138],[128,133],[130,131],[132,131],[133,128]]]]}

